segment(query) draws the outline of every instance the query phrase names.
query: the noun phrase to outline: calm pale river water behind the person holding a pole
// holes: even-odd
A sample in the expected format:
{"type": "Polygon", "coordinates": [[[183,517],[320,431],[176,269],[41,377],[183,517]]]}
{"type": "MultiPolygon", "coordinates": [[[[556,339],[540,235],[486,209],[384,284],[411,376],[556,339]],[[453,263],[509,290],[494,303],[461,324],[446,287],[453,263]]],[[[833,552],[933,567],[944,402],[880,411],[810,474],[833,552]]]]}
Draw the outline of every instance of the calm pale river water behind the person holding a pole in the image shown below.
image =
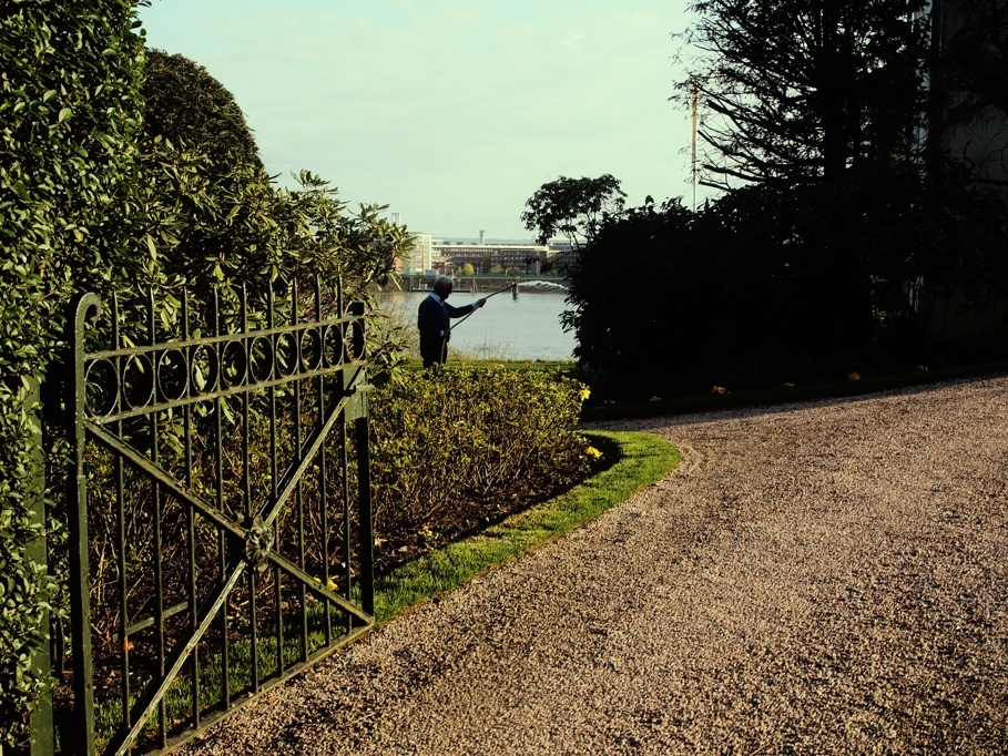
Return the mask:
{"type": "MultiPolygon", "coordinates": [[[[426,296],[426,292],[393,292],[381,295],[381,305],[401,310],[415,324],[417,307],[426,296]]],[[[454,292],[448,302],[461,307],[482,296],[486,294],[454,292]]],[[[573,359],[574,334],[560,327],[560,313],[567,309],[566,296],[520,288],[517,300],[510,292],[491,297],[465,323],[460,318],[451,321],[449,358],[456,355],[478,359],[573,359]]]]}

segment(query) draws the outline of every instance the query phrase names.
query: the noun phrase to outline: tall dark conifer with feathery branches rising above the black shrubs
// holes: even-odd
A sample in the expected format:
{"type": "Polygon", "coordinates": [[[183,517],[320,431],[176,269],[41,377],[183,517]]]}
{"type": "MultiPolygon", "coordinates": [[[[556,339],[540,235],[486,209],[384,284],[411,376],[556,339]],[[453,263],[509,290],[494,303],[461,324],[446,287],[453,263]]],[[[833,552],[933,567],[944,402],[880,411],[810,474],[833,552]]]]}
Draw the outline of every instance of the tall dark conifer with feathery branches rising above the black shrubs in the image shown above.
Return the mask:
{"type": "Polygon", "coordinates": [[[678,88],[712,113],[702,182],[836,181],[909,157],[923,118],[923,0],[701,0],[678,88]]]}

